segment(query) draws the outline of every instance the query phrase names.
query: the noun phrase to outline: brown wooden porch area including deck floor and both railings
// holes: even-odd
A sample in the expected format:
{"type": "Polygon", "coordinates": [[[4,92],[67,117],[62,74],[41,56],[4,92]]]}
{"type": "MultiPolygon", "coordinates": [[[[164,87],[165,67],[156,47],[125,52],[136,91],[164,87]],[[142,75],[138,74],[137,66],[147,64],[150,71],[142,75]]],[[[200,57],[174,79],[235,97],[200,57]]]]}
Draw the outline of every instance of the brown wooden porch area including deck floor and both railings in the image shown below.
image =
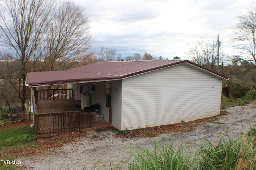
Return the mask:
{"type": "Polygon", "coordinates": [[[96,112],[76,108],[73,89],[32,89],[34,123],[38,138],[111,127],[104,120],[96,121],[96,112]]]}

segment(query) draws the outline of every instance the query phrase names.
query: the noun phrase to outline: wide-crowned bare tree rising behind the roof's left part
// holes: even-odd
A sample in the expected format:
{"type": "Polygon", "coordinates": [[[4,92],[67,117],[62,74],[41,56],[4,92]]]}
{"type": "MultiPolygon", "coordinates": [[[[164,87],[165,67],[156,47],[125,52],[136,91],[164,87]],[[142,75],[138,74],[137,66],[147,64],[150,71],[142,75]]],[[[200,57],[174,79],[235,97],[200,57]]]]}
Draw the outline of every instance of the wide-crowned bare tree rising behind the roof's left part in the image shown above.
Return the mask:
{"type": "Polygon", "coordinates": [[[64,1],[53,10],[41,46],[44,71],[65,70],[90,60],[90,33],[84,8],[64,1]],[[84,61],[85,62],[85,61],[84,61]]]}

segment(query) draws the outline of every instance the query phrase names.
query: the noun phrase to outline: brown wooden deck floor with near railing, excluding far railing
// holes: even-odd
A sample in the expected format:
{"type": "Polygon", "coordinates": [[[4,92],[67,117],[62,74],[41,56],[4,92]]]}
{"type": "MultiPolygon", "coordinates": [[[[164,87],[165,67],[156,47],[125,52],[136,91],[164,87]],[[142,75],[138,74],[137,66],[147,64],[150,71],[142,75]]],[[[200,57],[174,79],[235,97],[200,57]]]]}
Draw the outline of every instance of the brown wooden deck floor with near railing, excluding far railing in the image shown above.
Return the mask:
{"type": "Polygon", "coordinates": [[[74,99],[38,100],[36,117],[37,136],[55,136],[70,131],[86,131],[112,127],[104,120],[95,121],[95,113],[84,113],[75,108],[74,99]]]}

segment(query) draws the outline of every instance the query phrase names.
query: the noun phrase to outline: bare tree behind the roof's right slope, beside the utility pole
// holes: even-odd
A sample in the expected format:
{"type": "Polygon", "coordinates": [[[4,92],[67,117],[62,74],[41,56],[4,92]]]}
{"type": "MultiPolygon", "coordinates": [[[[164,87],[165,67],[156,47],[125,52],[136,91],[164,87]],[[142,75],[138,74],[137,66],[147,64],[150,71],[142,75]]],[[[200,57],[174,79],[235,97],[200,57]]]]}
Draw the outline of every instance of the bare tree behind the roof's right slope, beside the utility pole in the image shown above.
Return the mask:
{"type": "MultiPolygon", "coordinates": [[[[222,55],[222,53],[220,54],[222,55]]],[[[186,57],[192,59],[192,62],[196,64],[211,70],[216,70],[218,60],[217,39],[214,37],[205,37],[200,41],[193,42],[190,49],[186,53],[186,57]]]]}

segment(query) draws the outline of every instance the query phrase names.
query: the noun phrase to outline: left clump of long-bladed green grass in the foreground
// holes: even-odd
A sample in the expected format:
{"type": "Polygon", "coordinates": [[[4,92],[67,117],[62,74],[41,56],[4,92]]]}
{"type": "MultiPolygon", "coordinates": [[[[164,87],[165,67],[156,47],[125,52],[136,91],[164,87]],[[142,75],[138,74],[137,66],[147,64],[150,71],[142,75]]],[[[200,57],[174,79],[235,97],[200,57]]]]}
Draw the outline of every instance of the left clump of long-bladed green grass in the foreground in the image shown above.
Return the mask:
{"type": "Polygon", "coordinates": [[[184,147],[176,146],[174,140],[153,141],[153,148],[134,148],[125,163],[128,163],[128,170],[190,170],[189,165],[193,163],[187,158],[184,147]]]}

